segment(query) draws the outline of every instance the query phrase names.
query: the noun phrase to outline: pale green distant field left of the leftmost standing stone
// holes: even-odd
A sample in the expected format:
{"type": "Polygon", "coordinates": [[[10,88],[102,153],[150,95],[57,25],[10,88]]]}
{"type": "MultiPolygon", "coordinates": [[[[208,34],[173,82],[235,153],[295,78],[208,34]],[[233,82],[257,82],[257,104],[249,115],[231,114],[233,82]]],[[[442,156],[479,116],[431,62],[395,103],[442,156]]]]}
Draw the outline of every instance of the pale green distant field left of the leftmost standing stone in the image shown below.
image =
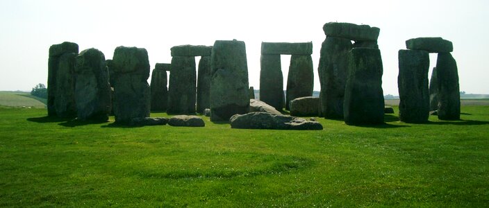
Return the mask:
{"type": "Polygon", "coordinates": [[[46,99],[31,96],[28,92],[0,92],[0,106],[45,107],[46,99]]]}

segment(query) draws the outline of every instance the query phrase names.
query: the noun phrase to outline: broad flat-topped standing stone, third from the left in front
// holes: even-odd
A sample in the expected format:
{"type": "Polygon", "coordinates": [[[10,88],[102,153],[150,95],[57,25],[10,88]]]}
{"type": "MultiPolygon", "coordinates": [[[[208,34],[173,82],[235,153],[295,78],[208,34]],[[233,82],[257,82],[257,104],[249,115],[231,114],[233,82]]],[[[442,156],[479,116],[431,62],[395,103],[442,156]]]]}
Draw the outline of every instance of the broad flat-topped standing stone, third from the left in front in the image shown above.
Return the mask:
{"type": "Polygon", "coordinates": [[[118,46],[113,56],[114,114],[116,123],[149,117],[151,95],[146,49],[118,46]]]}

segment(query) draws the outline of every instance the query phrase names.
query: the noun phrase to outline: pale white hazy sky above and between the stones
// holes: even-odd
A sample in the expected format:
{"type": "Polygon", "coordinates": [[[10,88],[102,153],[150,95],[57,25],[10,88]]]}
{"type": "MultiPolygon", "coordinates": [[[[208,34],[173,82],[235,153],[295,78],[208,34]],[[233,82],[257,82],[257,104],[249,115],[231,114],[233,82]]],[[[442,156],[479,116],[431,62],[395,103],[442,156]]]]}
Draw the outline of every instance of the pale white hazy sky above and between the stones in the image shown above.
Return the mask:
{"type": "MultiPolygon", "coordinates": [[[[255,89],[261,42],[313,42],[314,89],[320,91],[322,26],[338,21],[381,29],[384,94],[399,94],[397,53],[414,37],[453,42],[461,91],[489,94],[488,10],[487,0],[0,0],[0,90],[30,91],[46,84],[49,46],[65,41],[77,43],[80,51],[99,49],[106,59],[117,46],[145,48],[154,69],[156,63],[171,62],[172,46],[236,39],[246,44],[249,85],[255,89]]],[[[281,59],[286,85],[290,55],[281,59]]],[[[430,65],[431,76],[436,54],[430,55],[430,65]]]]}

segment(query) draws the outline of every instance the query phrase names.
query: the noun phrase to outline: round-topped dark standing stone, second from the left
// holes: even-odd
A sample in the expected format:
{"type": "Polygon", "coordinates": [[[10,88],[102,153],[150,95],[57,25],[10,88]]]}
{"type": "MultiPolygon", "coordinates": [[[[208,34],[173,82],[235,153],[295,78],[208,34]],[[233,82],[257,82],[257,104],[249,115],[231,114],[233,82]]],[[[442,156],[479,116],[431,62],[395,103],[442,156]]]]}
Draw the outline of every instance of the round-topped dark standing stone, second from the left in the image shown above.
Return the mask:
{"type": "Polygon", "coordinates": [[[97,49],[81,51],[76,56],[75,74],[78,119],[107,121],[112,91],[105,55],[97,49]]]}

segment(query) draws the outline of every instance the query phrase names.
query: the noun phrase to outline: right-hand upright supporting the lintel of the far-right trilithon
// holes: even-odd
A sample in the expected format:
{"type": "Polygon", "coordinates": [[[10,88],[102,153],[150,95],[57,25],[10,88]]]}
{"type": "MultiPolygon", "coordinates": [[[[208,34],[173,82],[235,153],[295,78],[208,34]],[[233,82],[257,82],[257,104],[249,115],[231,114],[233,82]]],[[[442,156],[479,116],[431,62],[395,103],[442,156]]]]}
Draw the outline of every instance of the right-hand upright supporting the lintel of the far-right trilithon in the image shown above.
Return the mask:
{"type": "Polygon", "coordinates": [[[458,69],[457,63],[450,53],[438,53],[436,74],[440,87],[438,96],[438,119],[460,120],[458,69]]]}

